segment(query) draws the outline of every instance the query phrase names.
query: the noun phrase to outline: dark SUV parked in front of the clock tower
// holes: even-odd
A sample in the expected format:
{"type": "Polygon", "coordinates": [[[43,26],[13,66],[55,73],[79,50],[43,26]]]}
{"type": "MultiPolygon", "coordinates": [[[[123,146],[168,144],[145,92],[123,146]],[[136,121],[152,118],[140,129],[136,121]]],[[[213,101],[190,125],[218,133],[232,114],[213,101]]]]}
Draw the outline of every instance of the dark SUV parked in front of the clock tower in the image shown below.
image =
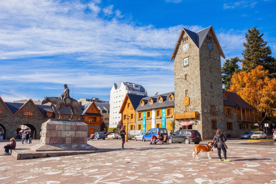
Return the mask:
{"type": "Polygon", "coordinates": [[[169,143],[184,142],[185,144],[190,144],[190,142],[194,142],[194,144],[199,144],[200,141],[202,141],[201,135],[197,130],[181,129],[174,132],[172,135],[168,137],[169,143]]]}

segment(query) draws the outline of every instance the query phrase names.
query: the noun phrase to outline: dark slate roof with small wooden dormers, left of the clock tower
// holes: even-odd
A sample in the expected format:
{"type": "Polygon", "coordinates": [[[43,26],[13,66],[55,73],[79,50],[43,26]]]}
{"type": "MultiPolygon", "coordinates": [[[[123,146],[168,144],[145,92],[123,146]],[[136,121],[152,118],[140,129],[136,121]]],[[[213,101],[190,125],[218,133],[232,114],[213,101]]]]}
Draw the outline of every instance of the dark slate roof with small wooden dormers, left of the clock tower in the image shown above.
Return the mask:
{"type": "MultiPolygon", "coordinates": [[[[149,110],[149,109],[157,109],[157,108],[163,108],[163,107],[170,107],[170,106],[174,106],[174,100],[173,101],[170,101],[168,99],[168,96],[170,94],[173,94],[174,95],[174,92],[171,92],[171,93],[164,93],[164,94],[160,94],[161,96],[166,96],[166,100],[164,100],[162,103],[159,103],[158,101],[157,102],[154,102],[152,105],[149,105],[148,103],[146,103],[144,106],[141,106],[139,104],[139,106],[136,108],[136,111],[142,111],[142,110],[149,110]]],[[[148,100],[149,98],[158,98],[160,95],[155,95],[155,96],[152,96],[152,97],[146,97],[146,98],[143,98],[143,100],[148,100]]]]}

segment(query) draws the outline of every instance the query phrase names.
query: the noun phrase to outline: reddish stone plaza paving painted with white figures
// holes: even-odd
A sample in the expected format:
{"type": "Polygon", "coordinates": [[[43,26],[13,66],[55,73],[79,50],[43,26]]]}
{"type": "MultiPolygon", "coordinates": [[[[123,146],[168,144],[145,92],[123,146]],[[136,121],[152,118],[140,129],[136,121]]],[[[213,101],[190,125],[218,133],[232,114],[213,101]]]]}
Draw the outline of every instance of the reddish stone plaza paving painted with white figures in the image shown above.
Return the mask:
{"type": "MultiPolygon", "coordinates": [[[[217,149],[211,152],[212,159],[206,153],[193,159],[195,144],[149,145],[130,140],[122,150],[120,142],[88,141],[113,151],[87,155],[28,160],[0,155],[0,183],[276,183],[276,148],[229,146],[227,154],[232,161],[220,162],[217,149]]],[[[0,141],[0,147],[6,143],[0,141]]],[[[17,148],[29,146],[17,140],[17,148]]]]}

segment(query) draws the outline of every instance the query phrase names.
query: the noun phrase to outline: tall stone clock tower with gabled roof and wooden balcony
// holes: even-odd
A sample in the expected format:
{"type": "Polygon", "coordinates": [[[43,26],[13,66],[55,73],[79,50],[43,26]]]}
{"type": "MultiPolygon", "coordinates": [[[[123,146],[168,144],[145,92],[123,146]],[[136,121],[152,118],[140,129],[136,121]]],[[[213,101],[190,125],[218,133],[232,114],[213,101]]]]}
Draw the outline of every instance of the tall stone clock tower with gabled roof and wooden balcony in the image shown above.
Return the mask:
{"type": "Polygon", "coordinates": [[[182,28],[171,56],[176,128],[187,125],[202,139],[213,139],[224,121],[220,57],[225,58],[212,26],[197,33],[182,28]]]}

